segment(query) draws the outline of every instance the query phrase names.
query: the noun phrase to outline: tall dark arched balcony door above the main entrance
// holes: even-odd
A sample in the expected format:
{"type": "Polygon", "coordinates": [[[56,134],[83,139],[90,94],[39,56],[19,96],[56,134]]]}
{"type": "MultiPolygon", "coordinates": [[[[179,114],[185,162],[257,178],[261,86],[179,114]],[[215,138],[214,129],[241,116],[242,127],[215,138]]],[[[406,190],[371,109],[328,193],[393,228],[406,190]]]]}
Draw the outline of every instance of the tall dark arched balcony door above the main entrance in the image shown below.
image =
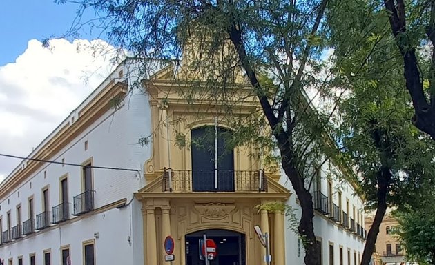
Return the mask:
{"type": "Polygon", "coordinates": [[[234,191],[234,151],[231,130],[204,126],[191,130],[193,191],[234,191]],[[218,182],[215,179],[215,140],[218,140],[218,182]],[[217,185],[215,185],[217,184],[217,185]]]}

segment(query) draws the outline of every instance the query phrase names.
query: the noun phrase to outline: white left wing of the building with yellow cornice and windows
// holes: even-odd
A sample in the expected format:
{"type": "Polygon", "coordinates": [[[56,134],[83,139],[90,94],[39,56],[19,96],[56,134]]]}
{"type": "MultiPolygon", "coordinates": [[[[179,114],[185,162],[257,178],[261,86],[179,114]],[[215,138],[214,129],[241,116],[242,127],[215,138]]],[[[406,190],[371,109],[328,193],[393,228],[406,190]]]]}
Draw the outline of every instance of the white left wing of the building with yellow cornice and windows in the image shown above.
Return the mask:
{"type": "Polygon", "coordinates": [[[137,139],[151,133],[150,113],[123,72],[119,66],[28,156],[59,164],[25,160],[1,184],[3,264],[143,264],[133,193],[144,185],[150,152],[137,139]],[[110,106],[128,93],[128,106],[110,106]]]}

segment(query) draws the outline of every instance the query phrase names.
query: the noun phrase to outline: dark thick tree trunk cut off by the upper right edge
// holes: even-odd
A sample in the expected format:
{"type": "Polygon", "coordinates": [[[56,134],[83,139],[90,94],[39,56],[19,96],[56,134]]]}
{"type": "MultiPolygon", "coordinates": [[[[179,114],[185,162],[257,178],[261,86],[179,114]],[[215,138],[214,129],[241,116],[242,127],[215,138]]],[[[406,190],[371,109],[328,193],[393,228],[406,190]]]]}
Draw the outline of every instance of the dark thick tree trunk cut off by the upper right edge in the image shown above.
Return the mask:
{"type": "Polygon", "coordinates": [[[403,75],[414,106],[412,124],[435,140],[435,1],[384,0],[389,25],[403,58],[403,75]],[[428,67],[417,49],[432,51],[428,67]],[[429,48],[430,46],[430,48],[429,48]],[[428,87],[427,87],[428,86],[428,87]]]}

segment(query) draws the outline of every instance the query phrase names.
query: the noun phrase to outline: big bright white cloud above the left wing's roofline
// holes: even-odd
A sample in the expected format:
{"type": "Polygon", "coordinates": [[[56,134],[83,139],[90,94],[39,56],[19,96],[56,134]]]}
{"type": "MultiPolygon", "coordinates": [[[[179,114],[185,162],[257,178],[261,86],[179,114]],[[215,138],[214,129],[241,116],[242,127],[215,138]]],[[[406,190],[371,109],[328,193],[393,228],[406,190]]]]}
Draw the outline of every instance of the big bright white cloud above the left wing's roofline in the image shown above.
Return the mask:
{"type": "MultiPolygon", "coordinates": [[[[30,40],[14,63],[0,66],[0,153],[26,156],[111,70],[114,48],[101,40],[30,40]]],[[[19,164],[0,157],[0,181],[19,164]]]]}

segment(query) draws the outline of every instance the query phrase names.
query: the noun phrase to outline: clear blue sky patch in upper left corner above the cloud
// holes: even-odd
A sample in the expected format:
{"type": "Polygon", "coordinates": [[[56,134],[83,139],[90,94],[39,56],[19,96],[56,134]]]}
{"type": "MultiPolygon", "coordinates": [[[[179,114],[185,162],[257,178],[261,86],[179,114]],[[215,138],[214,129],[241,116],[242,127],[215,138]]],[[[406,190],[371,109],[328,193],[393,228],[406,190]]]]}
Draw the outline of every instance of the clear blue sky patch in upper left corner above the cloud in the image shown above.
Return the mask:
{"type": "MultiPolygon", "coordinates": [[[[53,0],[3,0],[0,9],[0,66],[12,63],[30,39],[63,35],[75,18],[77,5],[53,0]]],[[[82,32],[84,39],[93,36],[82,32]]]]}

